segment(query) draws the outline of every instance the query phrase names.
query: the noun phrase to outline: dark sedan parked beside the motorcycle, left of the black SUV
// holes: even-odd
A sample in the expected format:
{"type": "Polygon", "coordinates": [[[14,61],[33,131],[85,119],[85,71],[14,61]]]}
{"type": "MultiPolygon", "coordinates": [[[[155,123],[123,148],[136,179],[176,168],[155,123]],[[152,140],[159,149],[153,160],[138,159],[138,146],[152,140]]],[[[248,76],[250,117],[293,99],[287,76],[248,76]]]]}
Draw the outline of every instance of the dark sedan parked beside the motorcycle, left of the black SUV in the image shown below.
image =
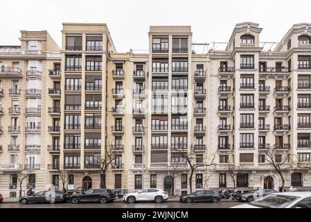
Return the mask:
{"type": "Polygon", "coordinates": [[[39,191],[32,196],[23,196],[19,198],[19,203],[27,204],[27,203],[59,203],[59,202],[66,202],[66,198],[64,194],[58,191],[39,191]]]}

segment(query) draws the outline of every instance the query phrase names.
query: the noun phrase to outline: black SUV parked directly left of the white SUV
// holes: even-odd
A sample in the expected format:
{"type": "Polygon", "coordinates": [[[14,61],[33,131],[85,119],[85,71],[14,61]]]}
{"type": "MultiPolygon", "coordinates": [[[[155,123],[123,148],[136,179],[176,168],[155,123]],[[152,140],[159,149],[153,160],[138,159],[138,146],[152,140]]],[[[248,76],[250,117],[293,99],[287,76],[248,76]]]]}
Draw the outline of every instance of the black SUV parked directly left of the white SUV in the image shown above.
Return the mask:
{"type": "Polygon", "coordinates": [[[80,202],[99,202],[109,203],[116,199],[116,195],[111,189],[88,189],[81,193],[75,193],[71,196],[71,203],[80,202]]]}

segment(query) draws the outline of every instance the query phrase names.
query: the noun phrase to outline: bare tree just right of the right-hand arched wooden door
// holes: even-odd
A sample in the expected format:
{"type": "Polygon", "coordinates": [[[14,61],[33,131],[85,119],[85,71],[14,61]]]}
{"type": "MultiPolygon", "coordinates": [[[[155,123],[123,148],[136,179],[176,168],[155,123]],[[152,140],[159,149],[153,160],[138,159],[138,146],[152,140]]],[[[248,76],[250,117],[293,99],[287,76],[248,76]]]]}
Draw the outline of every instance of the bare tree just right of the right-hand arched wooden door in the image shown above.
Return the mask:
{"type": "Polygon", "coordinates": [[[284,155],[278,154],[278,150],[274,147],[269,148],[265,155],[265,160],[276,170],[276,173],[281,177],[282,182],[282,192],[285,189],[285,178],[283,176],[283,170],[290,168],[287,162],[292,164],[292,161],[288,155],[284,157],[284,155]]]}

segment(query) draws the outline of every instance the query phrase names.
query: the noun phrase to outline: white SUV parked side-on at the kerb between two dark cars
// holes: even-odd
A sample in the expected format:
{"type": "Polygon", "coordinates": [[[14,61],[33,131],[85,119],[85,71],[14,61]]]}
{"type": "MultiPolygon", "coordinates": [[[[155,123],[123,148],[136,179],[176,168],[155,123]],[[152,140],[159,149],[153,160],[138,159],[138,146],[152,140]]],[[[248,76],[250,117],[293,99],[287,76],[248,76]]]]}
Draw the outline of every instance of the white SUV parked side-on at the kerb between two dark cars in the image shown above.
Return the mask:
{"type": "Polygon", "coordinates": [[[123,196],[123,201],[127,203],[135,203],[136,201],[155,201],[155,203],[162,203],[163,200],[167,199],[168,191],[165,189],[142,189],[123,196]]]}

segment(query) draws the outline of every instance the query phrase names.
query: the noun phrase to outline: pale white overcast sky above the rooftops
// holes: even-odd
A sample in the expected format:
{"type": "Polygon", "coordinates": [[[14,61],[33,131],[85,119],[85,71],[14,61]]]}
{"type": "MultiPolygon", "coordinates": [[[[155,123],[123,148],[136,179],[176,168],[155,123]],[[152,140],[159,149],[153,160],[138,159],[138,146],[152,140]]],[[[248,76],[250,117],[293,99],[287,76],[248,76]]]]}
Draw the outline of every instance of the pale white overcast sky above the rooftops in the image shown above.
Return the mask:
{"type": "Polygon", "coordinates": [[[279,42],[294,23],[311,23],[311,1],[7,0],[0,1],[0,45],[20,30],[48,31],[61,45],[62,22],[106,23],[118,52],[148,49],[150,25],[190,25],[193,42],[227,42],[236,23],[256,22],[260,42],[279,42]]]}

